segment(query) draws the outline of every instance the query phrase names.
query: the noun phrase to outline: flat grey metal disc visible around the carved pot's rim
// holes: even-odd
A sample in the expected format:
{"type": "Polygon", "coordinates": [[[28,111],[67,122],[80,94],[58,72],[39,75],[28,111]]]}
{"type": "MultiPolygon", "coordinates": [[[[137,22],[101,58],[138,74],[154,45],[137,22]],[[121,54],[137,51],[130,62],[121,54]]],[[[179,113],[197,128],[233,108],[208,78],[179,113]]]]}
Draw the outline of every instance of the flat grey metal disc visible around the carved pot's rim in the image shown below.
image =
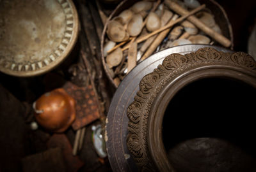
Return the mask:
{"type": "MultiPolygon", "coordinates": [[[[133,97],[136,96],[136,92],[139,90],[138,84],[141,78],[152,72],[154,68],[157,68],[166,56],[173,53],[187,54],[195,52],[205,46],[206,45],[181,45],[168,48],[148,57],[148,59],[138,64],[138,66],[124,78],[113,96],[106,119],[105,140],[109,162],[113,171],[138,171],[134,159],[126,145],[128,133],[128,117],[126,111],[129,104],[134,100],[133,97]]],[[[223,52],[232,52],[221,47],[214,48],[223,52]]]]}

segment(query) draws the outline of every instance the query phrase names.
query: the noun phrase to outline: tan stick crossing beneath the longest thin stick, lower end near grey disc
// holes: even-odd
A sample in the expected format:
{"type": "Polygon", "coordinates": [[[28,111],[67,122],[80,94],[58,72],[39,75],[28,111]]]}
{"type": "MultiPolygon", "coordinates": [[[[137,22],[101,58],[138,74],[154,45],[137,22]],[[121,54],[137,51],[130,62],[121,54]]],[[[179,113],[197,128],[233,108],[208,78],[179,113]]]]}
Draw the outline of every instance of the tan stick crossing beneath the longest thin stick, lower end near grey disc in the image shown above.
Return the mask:
{"type": "MultiPolygon", "coordinates": [[[[168,24],[172,24],[173,21],[177,20],[178,15],[174,15],[172,20],[170,20],[170,22],[168,22],[168,24]]],[[[148,48],[147,52],[145,52],[145,54],[141,57],[141,61],[143,61],[144,59],[146,59],[148,56],[150,56],[158,47],[158,45],[160,45],[160,43],[163,41],[163,39],[166,37],[166,35],[168,34],[168,32],[170,32],[171,28],[164,30],[163,32],[159,33],[156,37],[156,39],[153,41],[153,43],[150,45],[150,47],[148,48]]]]}

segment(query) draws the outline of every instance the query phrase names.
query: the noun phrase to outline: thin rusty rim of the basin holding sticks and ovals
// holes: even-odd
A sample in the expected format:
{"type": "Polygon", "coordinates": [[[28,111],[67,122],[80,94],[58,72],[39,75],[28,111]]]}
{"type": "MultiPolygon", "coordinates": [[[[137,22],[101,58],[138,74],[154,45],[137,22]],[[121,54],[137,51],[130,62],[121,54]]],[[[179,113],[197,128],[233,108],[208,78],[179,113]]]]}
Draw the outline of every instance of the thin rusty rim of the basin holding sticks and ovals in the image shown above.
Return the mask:
{"type": "MultiPolygon", "coordinates": [[[[102,38],[100,42],[102,64],[104,66],[104,70],[106,71],[106,75],[108,76],[109,81],[114,85],[115,88],[117,88],[117,85],[115,85],[115,82],[113,80],[114,78],[111,77],[111,70],[108,68],[106,64],[106,59],[104,58],[104,54],[103,54],[103,47],[104,47],[104,41],[106,38],[107,25],[112,18],[116,17],[119,13],[121,13],[122,11],[132,6],[132,4],[134,4],[135,2],[137,1],[125,0],[125,1],[122,1],[120,4],[118,4],[118,6],[116,6],[115,10],[109,16],[102,33],[102,38]]],[[[220,25],[221,31],[223,30],[223,36],[227,37],[232,42],[230,47],[232,49],[233,48],[233,32],[232,32],[232,27],[230,25],[230,22],[228,21],[227,14],[225,13],[225,10],[220,6],[220,4],[216,3],[216,1],[214,0],[210,0],[210,1],[200,0],[200,3],[205,4],[206,7],[209,8],[209,10],[211,10],[214,13],[216,23],[220,25]]],[[[214,43],[214,45],[218,45],[218,43],[214,43]]]]}

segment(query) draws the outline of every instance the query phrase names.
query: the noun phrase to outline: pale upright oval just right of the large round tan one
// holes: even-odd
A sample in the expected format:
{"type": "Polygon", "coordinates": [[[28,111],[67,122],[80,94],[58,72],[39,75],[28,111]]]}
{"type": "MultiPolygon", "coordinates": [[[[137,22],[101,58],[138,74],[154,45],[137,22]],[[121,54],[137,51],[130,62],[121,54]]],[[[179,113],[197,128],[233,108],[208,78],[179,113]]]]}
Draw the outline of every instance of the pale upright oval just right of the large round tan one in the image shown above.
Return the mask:
{"type": "Polygon", "coordinates": [[[137,14],[132,17],[127,25],[127,32],[130,36],[138,36],[143,28],[143,18],[137,14]]]}

